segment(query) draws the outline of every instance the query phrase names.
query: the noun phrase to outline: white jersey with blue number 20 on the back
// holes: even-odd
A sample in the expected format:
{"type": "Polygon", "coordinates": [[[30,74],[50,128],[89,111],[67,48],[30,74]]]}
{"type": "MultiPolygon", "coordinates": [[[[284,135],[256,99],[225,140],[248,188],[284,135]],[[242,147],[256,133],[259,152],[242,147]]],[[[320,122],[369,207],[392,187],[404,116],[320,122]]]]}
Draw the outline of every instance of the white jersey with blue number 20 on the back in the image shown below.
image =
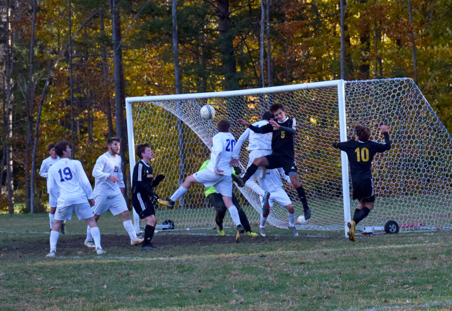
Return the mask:
{"type": "Polygon", "coordinates": [[[219,132],[213,136],[212,143],[211,161],[207,164],[206,169],[213,171],[217,168],[222,170],[222,174],[225,176],[231,176],[232,167],[229,163],[232,160],[236,139],[231,133],[219,132]]]}

